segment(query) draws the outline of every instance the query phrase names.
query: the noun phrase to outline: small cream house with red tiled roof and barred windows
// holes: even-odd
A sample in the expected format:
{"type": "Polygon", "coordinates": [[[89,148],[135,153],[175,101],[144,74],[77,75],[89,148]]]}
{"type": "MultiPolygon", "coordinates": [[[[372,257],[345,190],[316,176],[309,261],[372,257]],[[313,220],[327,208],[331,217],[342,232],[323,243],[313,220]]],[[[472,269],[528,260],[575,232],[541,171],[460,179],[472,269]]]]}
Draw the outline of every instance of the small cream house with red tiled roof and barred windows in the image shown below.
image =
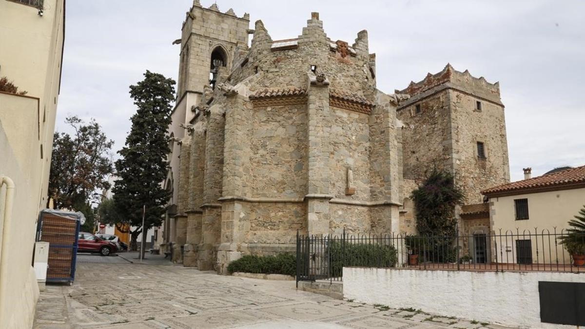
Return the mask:
{"type": "Polygon", "coordinates": [[[555,238],[585,204],[585,166],[534,178],[530,168],[524,172],[524,180],[482,191],[489,199],[491,229],[508,246],[503,254],[498,251],[501,261],[569,263],[570,256],[555,245],[555,238]]]}

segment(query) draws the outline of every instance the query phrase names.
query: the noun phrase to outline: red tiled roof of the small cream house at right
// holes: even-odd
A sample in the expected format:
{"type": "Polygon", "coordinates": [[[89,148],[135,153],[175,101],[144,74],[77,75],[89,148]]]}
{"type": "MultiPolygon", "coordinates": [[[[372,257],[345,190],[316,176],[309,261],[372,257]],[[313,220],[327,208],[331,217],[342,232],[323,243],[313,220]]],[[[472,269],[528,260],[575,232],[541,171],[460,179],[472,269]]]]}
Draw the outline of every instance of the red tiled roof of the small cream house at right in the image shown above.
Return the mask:
{"type": "Polygon", "coordinates": [[[514,181],[514,183],[491,187],[481,191],[482,194],[515,194],[518,191],[530,192],[542,189],[567,189],[585,187],[585,166],[562,170],[561,172],[544,174],[531,179],[514,181]]]}

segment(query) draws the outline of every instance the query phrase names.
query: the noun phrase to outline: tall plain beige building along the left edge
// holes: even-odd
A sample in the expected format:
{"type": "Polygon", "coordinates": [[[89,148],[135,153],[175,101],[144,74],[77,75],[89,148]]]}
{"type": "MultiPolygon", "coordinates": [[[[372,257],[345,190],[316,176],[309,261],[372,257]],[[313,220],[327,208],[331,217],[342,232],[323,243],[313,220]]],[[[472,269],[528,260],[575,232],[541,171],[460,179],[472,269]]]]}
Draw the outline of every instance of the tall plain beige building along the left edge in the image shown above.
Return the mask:
{"type": "Polygon", "coordinates": [[[64,40],[64,0],[0,0],[0,328],[30,328],[39,296],[32,257],[47,186],[64,40]]]}

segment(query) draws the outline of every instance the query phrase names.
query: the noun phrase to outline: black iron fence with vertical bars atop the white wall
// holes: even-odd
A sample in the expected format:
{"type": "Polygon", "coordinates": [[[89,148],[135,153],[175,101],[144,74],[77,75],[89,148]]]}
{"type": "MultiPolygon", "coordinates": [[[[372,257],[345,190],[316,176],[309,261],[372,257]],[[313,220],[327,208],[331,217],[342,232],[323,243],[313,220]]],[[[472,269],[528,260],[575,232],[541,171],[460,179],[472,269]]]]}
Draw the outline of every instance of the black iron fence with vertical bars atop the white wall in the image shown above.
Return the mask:
{"type": "Polygon", "coordinates": [[[556,229],[447,237],[297,234],[297,282],[340,281],[344,266],[585,273],[584,265],[585,235],[556,229]]]}

